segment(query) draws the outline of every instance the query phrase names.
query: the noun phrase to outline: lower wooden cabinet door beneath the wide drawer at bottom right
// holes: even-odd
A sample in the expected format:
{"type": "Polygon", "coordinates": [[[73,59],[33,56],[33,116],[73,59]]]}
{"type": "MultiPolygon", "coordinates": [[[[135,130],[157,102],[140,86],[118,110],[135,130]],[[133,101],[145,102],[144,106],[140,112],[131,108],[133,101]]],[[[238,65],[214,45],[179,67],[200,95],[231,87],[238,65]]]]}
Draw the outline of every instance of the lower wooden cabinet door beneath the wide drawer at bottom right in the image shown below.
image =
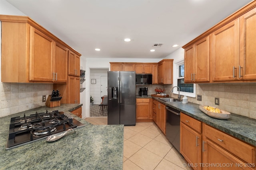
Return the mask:
{"type": "MultiPolygon", "coordinates": [[[[226,167],[220,167],[218,169],[223,170],[244,170],[249,169],[244,165],[245,163],[239,160],[238,158],[232,156],[230,153],[226,152],[222,148],[218,147],[218,145],[212,143],[208,139],[204,139],[203,141],[203,157],[202,162],[206,164],[220,164],[227,165],[226,167]],[[232,165],[232,166],[231,166],[232,165]]],[[[248,164],[249,165],[249,164],[248,164]]],[[[204,170],[216,170],[216,166],[204,166],[204,170]]]]}

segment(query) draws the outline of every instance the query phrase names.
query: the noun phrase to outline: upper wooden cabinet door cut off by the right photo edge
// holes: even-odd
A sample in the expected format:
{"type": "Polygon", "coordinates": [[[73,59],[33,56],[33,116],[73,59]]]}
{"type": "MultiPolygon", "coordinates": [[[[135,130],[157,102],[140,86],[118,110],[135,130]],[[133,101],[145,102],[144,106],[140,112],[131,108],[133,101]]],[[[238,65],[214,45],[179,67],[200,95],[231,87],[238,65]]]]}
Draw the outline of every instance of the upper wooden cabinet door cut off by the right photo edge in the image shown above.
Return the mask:
{"type": "MultiPolygon", "coordinates": [[[[256,79],[256,8],[240,17],[240,67],[242,80],[256,79]]],[[[240,72],[240,76],[239,76],[240,72]]]]}

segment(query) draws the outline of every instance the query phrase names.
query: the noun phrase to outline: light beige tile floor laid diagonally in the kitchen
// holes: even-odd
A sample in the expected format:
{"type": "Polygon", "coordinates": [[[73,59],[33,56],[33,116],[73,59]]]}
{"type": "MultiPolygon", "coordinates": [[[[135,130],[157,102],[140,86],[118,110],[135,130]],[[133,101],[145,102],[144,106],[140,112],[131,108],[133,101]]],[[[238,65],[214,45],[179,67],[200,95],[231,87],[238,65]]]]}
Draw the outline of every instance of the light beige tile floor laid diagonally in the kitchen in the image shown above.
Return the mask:
{"type": "MultiPolygon", "coordinates": [[[[107,125],[107,117],[88,117],[94,125],[107,125]]],[[[124,126],[123,170],[192,170],[154,122],[124,126]]]]}

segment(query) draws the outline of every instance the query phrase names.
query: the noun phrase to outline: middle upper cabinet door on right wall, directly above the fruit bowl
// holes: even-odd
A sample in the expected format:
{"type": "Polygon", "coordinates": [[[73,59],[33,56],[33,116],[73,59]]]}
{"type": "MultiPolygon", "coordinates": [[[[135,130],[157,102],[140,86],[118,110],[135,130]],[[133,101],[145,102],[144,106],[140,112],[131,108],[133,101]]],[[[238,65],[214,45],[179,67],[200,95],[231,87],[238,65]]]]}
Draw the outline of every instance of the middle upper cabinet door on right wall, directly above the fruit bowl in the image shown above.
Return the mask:
{"type": "Polygon", "coordinates": [[[212,80],[237,80],[239,65],[238,19],[212,33],[212,80]]]}

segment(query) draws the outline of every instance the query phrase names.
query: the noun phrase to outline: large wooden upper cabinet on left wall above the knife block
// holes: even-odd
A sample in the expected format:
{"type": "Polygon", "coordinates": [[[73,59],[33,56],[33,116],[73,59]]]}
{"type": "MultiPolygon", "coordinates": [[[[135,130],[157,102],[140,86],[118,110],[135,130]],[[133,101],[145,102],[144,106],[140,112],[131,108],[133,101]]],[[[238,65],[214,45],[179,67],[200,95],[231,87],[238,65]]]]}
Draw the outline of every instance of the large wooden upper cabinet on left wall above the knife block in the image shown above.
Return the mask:
{"type": "MultiPolygon", "coordinates": [[[[71,47],[26,16],[0,15],[0,21],[2,82],[67,82],[71,47]]],[[[80,74],[78,54],[76,76],[80,74]]]]}

